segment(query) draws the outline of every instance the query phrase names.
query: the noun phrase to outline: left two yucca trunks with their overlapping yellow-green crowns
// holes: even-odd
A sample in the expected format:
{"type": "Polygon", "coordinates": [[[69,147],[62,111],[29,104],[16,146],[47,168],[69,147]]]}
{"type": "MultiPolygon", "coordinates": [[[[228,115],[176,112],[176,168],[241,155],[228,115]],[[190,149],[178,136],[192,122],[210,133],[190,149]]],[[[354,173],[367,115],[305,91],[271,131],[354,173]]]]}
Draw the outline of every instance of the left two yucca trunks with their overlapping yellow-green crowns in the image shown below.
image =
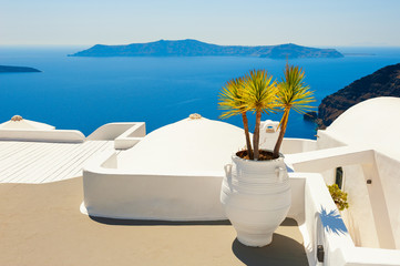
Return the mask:
{"type": "Polygon", "coordinates": [[[219,94],[218,104],[220,109],[226,110],[226,112],[220,115],[222,119],[242,114],[246,134],[247,153],[250,160],[258,160],[259,157],[259,126],[261,114],[269,114],[276,110],[276,81],[273,81],[273,76],[268,75],[265,70],[254,70],[244,78],[228,81],[219,94]],[[256,113],[253,149],[246,115],[248,111],[256,113]]]}

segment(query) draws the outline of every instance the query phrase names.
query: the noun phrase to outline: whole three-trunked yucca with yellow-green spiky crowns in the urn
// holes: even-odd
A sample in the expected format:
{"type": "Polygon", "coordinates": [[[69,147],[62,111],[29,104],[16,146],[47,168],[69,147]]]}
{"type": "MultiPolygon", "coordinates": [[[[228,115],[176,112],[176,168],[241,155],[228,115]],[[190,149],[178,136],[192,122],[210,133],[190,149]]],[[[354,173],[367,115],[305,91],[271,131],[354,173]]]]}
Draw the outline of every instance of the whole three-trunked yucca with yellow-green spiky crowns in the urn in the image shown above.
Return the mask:
{"type": "MultiPolygon", "coordinates": [[[[274,147],[273,158],[279,157],[279,150],[286,133],[290,110],[306,113],[315,102],[312,91],[305,84],[305,72],[299,66],[286,64],[285,76],[277,83],[265,70],[253,70],[243,78],[228,81],[219,93],[219,108],[226,110],[220,117],[227,119],[242,114],[246,135],[248,158],[259,160],[259,127],[261,114],[270,114],[283,111],[284,115],[279,123],[279,135],[274,147]],[[250,143],[247,112],[256,114],[256,125],[253,134],[253,147],[250,143]]],[[[264,158],[265,160],[265,158],[264,158]]]]}

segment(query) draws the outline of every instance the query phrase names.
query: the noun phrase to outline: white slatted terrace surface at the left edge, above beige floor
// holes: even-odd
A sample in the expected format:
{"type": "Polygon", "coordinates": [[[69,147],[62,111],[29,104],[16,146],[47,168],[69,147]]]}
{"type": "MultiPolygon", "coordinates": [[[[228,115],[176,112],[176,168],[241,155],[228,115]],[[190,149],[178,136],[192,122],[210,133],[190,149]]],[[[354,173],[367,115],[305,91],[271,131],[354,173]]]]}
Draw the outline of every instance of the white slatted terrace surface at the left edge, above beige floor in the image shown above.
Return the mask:
{"type": "Polygon", "coordinates": [[[82,176],[90,157],[113,149],[113,141],[0,141],[0,183],[48,183],[82,176]]]}

